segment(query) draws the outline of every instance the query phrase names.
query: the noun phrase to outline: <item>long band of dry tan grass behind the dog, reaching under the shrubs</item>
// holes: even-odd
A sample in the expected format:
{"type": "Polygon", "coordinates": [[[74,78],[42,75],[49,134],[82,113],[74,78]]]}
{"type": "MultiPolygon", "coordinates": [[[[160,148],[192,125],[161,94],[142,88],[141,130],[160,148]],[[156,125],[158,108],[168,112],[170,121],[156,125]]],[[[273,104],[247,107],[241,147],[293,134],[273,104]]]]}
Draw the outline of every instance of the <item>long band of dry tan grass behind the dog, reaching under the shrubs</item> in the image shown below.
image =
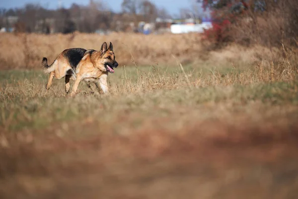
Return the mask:
{"type": "Polygon", "coordinates": [[[1,33],[0,68],[40,68],[42,57],[47,57],[49,62],[52,62],[66,48],[80,47],[98,50],[104,41],[111,41],[114,44],[115,54],[120,66],[133,65],[132,55],[138,66],[172,65],[176,63],[172,55],[177,57],[184,65],[208,60],[216,66],[222,66],[222,61],[226,64],[230,64],[231,60],[249,63],[260,57],[271,60],[278,53],[277,49],[269,50],[260,46],[249,49],[240,46],[229,46],[218,54],[209,54],[202,47],[198,34],[142,35],[115,33],[100,36],[98,34],[74,33],[47,36],[41,34],[1,33]]]}

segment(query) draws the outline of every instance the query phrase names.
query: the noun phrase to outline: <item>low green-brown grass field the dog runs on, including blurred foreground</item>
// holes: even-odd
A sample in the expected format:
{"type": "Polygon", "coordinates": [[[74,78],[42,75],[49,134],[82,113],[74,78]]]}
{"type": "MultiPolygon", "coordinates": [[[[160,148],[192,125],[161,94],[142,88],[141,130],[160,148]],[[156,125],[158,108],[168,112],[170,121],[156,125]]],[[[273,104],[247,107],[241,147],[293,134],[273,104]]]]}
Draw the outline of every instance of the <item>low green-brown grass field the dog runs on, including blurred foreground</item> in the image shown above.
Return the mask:
{"type": "Polygon", "coordinates": [[[296,59],[119,67],[74,98],[0,71],[0,198],[295,198],[296,59]]]}

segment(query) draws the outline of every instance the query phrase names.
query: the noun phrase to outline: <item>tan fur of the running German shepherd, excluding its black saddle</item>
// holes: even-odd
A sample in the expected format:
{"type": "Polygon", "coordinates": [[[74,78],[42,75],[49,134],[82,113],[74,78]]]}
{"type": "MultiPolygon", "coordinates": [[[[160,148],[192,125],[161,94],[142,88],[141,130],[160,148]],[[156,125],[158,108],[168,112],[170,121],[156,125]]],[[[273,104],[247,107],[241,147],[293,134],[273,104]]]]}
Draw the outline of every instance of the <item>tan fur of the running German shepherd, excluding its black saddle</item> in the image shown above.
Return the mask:
{"type": "Polygon", "coordinates": [[[104,42],[100,51],[87,50],[80,62],[77,64],[75,74],[68,73],[68,71],[73,71],[73,69],[69,60],[66,56],[64,56],[66,52],[67,50],[64,50],[51,66],[47,66],[46,62],[47,68],[45,69],[45,72],[50,73],[49,81],[46,85],[47,90],[51,88],[54,77],[56,79],[62,79],[65,77],[66,93],[69,93],[70,91],[70,79],[74,80],[71,96],[75,95],[78,85],[82,80],[87,83],[89,88],[89,82],[92,82],[95,83],[97,89],[100,87],[104,94],[109,93],[107,84],[109,72],[107,71],[105,64],[116,63],[118,66],[118,63],[115,61],[115,55],[111,43],[109,48],[107,48],[107,44],[104,42]]]}

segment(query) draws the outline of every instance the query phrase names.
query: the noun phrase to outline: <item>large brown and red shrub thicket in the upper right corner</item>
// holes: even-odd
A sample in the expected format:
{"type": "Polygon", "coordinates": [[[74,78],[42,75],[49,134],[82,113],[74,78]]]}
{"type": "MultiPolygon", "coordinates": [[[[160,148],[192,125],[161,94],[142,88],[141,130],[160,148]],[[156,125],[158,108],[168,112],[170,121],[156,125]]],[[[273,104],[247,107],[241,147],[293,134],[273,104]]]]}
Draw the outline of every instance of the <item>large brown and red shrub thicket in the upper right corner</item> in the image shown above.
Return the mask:
{"type": "Polygon", "coordinates": [[[204,38],[217,46],[226,42],[262,44],[268,47],[297,46],[297,0],[204,0],[211,10],[213,28],[204,38]]]}

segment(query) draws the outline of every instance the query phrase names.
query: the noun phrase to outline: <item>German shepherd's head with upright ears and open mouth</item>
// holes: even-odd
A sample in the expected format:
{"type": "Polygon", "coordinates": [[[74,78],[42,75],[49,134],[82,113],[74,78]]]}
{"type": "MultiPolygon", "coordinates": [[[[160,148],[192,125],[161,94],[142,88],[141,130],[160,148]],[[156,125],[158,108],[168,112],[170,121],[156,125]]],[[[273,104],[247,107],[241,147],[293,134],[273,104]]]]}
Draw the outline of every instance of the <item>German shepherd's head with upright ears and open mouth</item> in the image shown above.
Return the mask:
{"type": "Polygon", "coordinates": [[[115,53],[113,50],[113,44],[111,42],[109,47],[106,42],[103,42],[100,48],[100,57],[105,71],[114,73],[114,68],[117,68],[118,63],[115,60],[115,53]]]}

